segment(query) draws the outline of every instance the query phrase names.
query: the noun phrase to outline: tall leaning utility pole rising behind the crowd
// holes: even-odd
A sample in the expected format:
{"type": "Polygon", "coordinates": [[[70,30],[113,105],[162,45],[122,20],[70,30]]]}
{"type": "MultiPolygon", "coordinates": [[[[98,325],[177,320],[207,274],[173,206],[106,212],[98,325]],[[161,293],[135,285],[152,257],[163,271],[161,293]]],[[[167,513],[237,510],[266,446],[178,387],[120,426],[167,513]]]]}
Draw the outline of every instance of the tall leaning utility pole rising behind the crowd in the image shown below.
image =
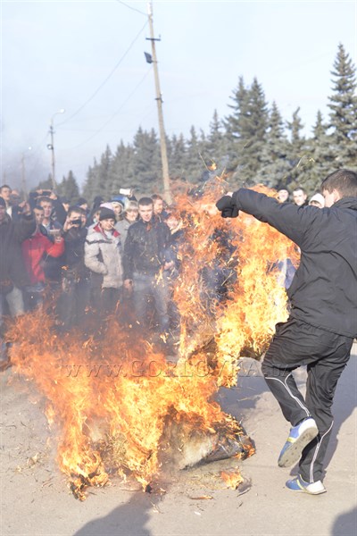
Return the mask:
{"type": "Polygon", "coordinates": [[[159,117],[160,145],[161,145],[161,153],[162,153],[163,193],[164,193],[164,197],[166,201],[170,204],[172,199],[171,199],[171,192],[170,192],[169,163],[168,163],[168,158],[167,158],[165,128],[163,126],[162,92],[160,90],[159,71],[157,69],[157,58],[156,58],[156,49],[155,49],[155,41],[160,41],[160,39],[154,38],[152,2],[148,2],[147,4],[147,13],[149,17],[150,38],[146,38],[146,39],[148,41],[151,41],[151,50],[152,50],[153,65],[154,65],[154,80],[155,80],[155,92],[156,92],[155,100],[157,103],[157,113],[159,117]]]}

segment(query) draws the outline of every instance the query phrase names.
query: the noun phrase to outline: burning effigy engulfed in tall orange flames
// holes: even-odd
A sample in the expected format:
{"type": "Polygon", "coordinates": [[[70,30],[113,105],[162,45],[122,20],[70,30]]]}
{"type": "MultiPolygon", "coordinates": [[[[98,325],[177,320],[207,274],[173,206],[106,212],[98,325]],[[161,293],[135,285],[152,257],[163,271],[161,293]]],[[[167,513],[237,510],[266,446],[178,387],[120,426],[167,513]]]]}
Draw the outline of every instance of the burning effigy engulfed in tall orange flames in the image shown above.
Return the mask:
{"type": "MultiPolygon", "coordinates": [[[[46,399],[58,465],[81,500],[88,486],[103,486],[114,475],[134,478],[147,490],[175,452],[179,468],[254,452],[215,395],[237,384],[240,358],[259,359],[275,324],[286,320],[278,264],[286,258],[297,263],[298,252],[252,216],[220,218],[214,204],[225,188],[217,178],[213,188],[176,197],[184,231],[172,281],[176,359],[135,322],[123,322],[125,315],[107,319],[94,333],[58,333],[43,308],[8,331],[12,370],[46,399]]],[[[237,487],[237,475],[233,480],[237,487]]]]}

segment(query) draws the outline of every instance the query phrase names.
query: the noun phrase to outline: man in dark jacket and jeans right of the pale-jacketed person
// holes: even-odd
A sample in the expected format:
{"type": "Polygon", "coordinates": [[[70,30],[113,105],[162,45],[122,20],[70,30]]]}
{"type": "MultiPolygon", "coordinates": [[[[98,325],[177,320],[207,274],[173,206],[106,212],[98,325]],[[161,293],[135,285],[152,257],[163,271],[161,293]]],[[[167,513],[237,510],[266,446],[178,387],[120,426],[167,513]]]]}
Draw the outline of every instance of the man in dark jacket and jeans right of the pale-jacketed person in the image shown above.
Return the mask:
{"type": "Polygon", "coordinates": [[[165,278],[159,275],[174,264],[170,251],[170,229],[166,223],[154,218],[151,197],[139,199],[138,210],[140,219],[129,227],[124,244],[124,289],[133,291],[135,313],[142,326],[147,324],[147,298],[153,297],[160,332],[167,333],[170,324],[169,289],[165,278]]]}

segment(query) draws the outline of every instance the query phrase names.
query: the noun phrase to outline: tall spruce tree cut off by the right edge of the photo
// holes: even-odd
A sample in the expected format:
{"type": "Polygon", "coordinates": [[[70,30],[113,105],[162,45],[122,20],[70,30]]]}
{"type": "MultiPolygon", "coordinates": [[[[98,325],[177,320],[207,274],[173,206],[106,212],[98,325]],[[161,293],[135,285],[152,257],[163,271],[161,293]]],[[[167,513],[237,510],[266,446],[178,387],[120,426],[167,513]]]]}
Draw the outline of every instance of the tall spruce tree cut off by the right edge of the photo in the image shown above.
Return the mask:
{"type": "MultiPolygon", "coordinates": [[[[336,153],[335,167],[357,166],[357,95],[356,68],[342,44],[334,63],[333,94],[328,97],[329,127],[336,153]]],[[[334,171],[333,169],[331,172],[334,171]]]]}

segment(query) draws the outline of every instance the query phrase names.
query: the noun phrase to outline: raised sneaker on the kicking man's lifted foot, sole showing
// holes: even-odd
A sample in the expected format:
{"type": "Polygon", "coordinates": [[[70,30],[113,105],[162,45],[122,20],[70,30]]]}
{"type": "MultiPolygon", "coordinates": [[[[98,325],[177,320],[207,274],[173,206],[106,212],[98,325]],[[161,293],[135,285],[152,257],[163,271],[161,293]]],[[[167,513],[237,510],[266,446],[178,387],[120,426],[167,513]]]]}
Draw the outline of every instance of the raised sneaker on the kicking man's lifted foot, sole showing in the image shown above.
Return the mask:
{"type": "Polygon", "coordinates": [[[300,459],[303,448],[315,439],[318,433],[317,424],[312,417],[308,417],[302,423],[294,426],[290,430],[286,444],[280,452],[278,466],[290,467],[290,465],[294,465],[300,459]]]}

